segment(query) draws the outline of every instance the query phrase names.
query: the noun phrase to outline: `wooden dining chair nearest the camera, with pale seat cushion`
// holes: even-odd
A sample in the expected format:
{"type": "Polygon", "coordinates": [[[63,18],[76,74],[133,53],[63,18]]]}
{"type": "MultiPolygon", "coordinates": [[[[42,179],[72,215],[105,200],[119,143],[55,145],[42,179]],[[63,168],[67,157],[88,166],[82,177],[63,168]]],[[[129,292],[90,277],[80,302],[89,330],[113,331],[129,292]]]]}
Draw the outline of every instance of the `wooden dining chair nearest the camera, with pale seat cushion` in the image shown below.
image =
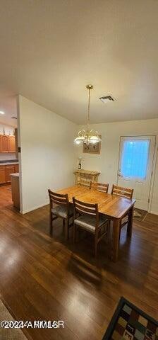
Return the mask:
{"type": "Polygon", "coordinates": [[[73,197],[73,243],[78,229],[90,232],[95,237],[95,257],[97,257],[98,243],[104,236],[108,236],[108,222],[107,217],[99,215],[97,203],[85,203],[73,197]]]}

